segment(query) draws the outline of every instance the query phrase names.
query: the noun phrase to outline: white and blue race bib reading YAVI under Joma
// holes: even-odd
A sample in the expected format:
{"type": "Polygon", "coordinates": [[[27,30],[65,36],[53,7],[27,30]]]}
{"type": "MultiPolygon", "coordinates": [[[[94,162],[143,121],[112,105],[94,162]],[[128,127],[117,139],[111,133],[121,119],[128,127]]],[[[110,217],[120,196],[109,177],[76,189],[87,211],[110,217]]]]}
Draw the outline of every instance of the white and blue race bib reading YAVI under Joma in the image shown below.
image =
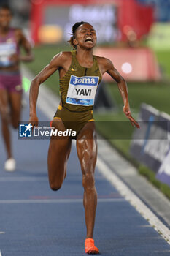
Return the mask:
{"type": "Polygon", "coordinates": [[[66,95],[66,103],[72,105],[94,105],[99,77],[76,77],[71,75],[69,89],[66,95]]]}

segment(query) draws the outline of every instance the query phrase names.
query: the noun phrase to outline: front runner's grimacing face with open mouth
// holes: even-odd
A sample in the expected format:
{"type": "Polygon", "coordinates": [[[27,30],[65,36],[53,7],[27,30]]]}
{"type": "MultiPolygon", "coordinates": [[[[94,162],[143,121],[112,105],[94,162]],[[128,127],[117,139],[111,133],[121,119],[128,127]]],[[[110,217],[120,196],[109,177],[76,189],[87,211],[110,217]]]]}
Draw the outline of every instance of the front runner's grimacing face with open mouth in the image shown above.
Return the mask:
{"type": "Polygon", "coordinates": [[[74,45],[91,49],[96,45],[96,30],[90,24],[82,24],[78,27],[74,39],[74,45]]]}

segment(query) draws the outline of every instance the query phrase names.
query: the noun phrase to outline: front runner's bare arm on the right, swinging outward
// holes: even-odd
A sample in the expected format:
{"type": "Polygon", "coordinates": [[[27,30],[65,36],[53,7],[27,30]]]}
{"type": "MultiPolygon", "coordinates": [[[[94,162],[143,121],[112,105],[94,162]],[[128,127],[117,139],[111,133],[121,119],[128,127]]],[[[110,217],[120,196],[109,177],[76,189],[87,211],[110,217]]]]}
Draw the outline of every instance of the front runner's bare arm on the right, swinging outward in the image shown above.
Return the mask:
{"type": "Polygon", "coordinates": [[[120,91],[120,94],[124,102],[123,112],[125,113],[125,116],[127,116],[127,118],[131,121],[131,124],[134,127],[140,128],[139,124],[131,116],[131,110],[128,102],[128,87],[125,82],[125,79],[120,75],[117,69],[115,69],[114,65],[112,64],[112,61],[104,58],[104,61],[102,62],[104,64],[103,65],[104,72],[107,72],[117,82],[118,89],[120,91]]]}

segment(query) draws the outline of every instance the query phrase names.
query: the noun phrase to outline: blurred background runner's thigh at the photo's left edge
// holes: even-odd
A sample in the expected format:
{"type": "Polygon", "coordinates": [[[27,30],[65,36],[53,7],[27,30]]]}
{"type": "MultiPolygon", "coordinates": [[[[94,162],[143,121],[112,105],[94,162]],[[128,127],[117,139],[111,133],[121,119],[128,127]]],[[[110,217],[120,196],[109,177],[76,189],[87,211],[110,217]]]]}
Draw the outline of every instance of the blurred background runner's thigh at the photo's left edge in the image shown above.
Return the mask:
{"type": "Polygon", "coordinates": [[[0,89],[0,113],[1,118],[8,118],[9,116],[9,97],[5,89],[0,89]]]}

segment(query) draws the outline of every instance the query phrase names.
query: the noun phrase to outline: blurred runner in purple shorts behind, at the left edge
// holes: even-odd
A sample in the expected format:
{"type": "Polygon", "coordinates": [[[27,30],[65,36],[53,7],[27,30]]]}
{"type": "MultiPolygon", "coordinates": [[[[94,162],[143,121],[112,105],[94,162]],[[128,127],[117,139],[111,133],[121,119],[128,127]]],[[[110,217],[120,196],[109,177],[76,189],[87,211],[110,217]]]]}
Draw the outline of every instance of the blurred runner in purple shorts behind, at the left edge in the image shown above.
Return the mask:
{"type": "Polygon", "coordinates": [[[12,10],[8,5],[0,6],[0,115],[1,133],[7,151],[7,161],[4,168],[15,170],[15,159],[12,156],[12,146],[9,126],[18,128],[20,121],[22,80],[20,61],[32,61],[31,45],[21,29],[10,27],[12,10]],[[26,56],[20,55],[22,47],[26,56]]]}

